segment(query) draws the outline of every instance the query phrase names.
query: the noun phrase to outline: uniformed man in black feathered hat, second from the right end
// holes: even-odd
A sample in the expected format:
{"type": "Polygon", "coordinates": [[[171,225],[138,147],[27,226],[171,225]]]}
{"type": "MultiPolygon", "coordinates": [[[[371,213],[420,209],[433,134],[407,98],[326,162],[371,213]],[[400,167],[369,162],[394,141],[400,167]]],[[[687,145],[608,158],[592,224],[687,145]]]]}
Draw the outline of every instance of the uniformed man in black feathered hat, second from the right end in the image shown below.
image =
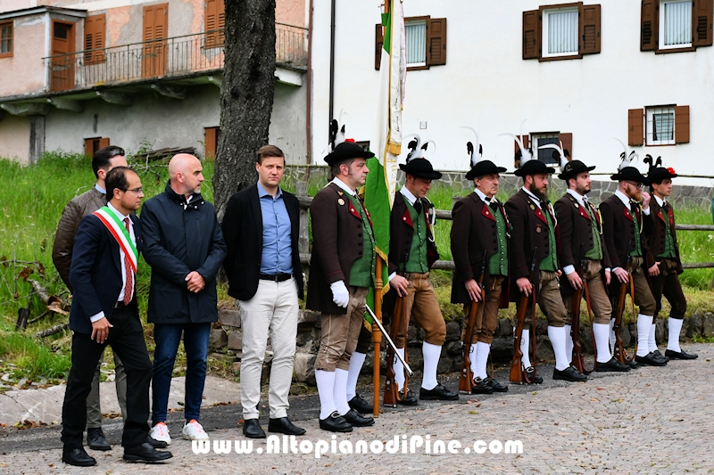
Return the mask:
{"type": "MultiPolygon", "coordinates": [[[[617,304],[620,283],[629,283],[631,274],[635,289],[632,299],[639,307],[637,352],[633,363],[664,366],[667,360],[654,355],[656,346],[650,347],[650,332],[654,332],[652,321],[657,305],[652,297],[648,279],[657,264],[652,258],[646,239],[647,233],[652,233],[652,212],[650,193],[643,192],[642,187],[643,184],[649,184],[649,181],[635,167],[624,167],[610,176],[610,179],[618,182],[618,190],[602,201],[600,212],[611,273],[616,277],[610,281],[612,307],[617,304]],[[631,257],[629,272],[626,270],[628,256],[631,257]]],[[[614,334],[610,335],[610,340],[614,340],[614,334]]]]}

